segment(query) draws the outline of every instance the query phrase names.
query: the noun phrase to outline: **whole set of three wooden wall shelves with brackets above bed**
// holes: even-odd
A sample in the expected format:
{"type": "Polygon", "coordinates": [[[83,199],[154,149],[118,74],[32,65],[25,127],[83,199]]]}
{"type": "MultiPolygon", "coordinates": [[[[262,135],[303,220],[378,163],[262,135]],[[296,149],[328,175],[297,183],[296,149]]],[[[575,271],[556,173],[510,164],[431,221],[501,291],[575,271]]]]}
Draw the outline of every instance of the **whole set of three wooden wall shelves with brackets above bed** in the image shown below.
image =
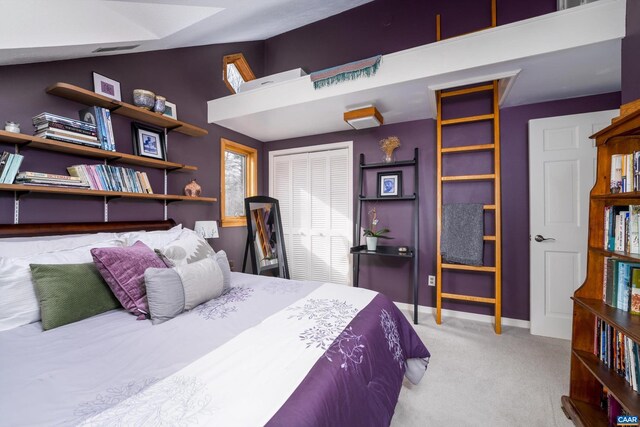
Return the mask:
{"type": "MultiPolygon", "coordinates": [[[[98,95],[87,89],[74,86],[68,83],[55,83],[47,88],[47,93],[60,96],[81,104],[89,106],[98,106],[107,108],[113,114],[122,115],[134,120],[149,123],[162,127],[167,131],[175,131],[185,135],[199,137],[208,134],[206,129],[194,126],[192,124],[163,116],[162,114],[153,113],[135,105],[127,104],[121,101],[115,101],[102,95],[98,95]]],[[[214,197],[188,197],[182,195],[166,194],[166,174],[168,172],[195,172],[198,170],[196,166],[185,165],[181,163],[169,162],[164,160],[152,159],[142,156],[135,156],[127,153],[119,153],[116,151],[106,151],[99,148],[87,147],[79,144],[71,144],[65,142],[54,141],[51,139],[39,138],[36,136],[25,135],[21,133],[11,133],[0,130],[0,143],[12,144],[16,147],[16,152],[20,147],[31,147],[39,150],[53,151],[59,153],[73,154],[80,157],[99,159],[105,163],[118,162],[130,166],[143,166],[154,169],[163,170],[165,173],[165,191],[159,194],[145,194],[119,191],[102,191],[89,189],[76,189],[64,187],[34,186],[22,184],[0,184],[0,192],[13,192],[15,194],[15,216],[14,222],[18,222],[18,200],[25,194],[45,193],[58,195],[71,195],[83,197],[103,197],[105,200],[105,221],[107,220],[106,204],[113,199],[128,198],[141,200],[157,200],[166,205],[171,202],[204,202],[212,203],[217,199],[214,197]]],[[[166,219],[166,218],[165,218],[166,219]]]]}

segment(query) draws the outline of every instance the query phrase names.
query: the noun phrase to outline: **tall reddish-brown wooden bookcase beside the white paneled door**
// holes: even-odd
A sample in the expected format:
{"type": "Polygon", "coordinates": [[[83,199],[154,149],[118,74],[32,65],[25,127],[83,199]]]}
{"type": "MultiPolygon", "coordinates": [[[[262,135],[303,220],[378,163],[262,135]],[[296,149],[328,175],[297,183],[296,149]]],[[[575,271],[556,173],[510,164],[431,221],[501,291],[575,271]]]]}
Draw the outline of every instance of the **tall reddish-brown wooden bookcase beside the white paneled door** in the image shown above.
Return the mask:
{"type": "Polygon", "coordinates": [[[604,208],[640,204],[640,192],[611,194],[610,169],[613,154],[640,151],[640,111],[628,114],[592,136],[598,149],[596,183],[589,205],[587,278],[573,296],[571,339],[571,384],[562,407],[578,426],[607,426],[606,411],[600,409],[603,387],[631,415],[640,415],[640,394],[594,355],[596,317],[640,342],[640,316],[618,310],[602,301],[605,257],[640,262],[640,255],[604,249],[604,208]]]}

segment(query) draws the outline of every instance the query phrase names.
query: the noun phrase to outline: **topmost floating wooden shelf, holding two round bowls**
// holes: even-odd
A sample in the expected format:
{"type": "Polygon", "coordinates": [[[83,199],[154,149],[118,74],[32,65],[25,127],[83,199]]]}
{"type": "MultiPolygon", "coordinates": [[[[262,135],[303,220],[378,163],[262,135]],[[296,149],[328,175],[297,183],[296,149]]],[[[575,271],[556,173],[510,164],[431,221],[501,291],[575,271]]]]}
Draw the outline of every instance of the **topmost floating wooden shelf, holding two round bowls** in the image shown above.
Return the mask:
{"type": "Polygon", "coordinates": [[[171,117],[163,116],[162,114],[127,104],[126,102],[113,100],[69,83],[58,82],[53,84],[47,88],[47,93],[70,99],[81,104],[107,108],[114,114],[166,128],[167,130],[173,130],[189,136],[205,136],[209,133],[206,129],[198,126],[172,119],[171,117]]]}

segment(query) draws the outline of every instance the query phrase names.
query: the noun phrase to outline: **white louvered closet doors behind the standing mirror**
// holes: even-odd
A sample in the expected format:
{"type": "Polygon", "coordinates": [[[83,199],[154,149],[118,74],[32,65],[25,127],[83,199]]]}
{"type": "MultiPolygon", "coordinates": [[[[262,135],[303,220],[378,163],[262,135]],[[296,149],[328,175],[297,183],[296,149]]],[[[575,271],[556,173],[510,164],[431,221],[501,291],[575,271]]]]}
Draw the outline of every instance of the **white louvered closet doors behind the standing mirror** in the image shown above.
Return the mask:
{"type": "Polygon", "coordinates": [[[350,283],[350,161],[347,149],[274,158],[272,195],[293,279],[350,283]]]}

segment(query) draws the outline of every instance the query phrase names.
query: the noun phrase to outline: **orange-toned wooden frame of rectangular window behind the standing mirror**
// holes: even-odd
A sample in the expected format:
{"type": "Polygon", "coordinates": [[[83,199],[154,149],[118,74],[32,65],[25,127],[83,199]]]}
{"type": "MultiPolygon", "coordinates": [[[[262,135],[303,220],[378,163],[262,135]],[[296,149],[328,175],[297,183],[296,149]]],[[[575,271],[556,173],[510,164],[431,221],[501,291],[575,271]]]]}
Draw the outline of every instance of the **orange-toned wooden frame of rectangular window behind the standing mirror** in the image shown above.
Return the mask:
{"type": "Polygon", "coordinates": [[[245,164],[245,196],[251,197],[258,194],[258,150],[243,144],[239,144],[237,142],[233,142],[226,138],[220,138],[220,223],[222,227],[245,227],[247,225],[246,215],[225,215],[226,151],[232,151],[236,154],[246,156],[247,161],[245,164]]]}

